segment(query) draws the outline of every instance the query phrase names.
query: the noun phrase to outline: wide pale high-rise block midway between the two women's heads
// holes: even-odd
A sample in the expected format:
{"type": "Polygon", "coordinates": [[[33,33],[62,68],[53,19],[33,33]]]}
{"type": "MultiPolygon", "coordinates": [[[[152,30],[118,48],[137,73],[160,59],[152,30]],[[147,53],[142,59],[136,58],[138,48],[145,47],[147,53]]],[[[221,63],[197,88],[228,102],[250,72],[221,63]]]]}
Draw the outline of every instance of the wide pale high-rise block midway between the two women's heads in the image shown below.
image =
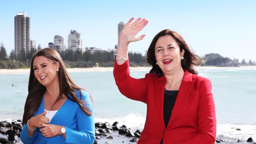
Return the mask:
{"type": "Polygon", "coordinates": [[[81,33],[78,33],[78,31],[75,30],[70,30],[68,38],[68,48],[72,49],[73,51],[83,50],[81,33]]]}

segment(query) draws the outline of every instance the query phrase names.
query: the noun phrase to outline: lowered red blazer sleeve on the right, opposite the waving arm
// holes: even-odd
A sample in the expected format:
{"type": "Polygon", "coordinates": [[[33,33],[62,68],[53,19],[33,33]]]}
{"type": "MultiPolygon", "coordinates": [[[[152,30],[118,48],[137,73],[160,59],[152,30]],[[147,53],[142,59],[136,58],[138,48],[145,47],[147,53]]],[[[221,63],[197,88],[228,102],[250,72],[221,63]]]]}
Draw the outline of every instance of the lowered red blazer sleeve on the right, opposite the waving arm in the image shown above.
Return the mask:
{"type": "Polygon", "coordinates": [[[204,79],[199,89],[197,110],[197,135],[177,144],[214,144],[216,138],[216,116],[211,81],[204,79]]]}

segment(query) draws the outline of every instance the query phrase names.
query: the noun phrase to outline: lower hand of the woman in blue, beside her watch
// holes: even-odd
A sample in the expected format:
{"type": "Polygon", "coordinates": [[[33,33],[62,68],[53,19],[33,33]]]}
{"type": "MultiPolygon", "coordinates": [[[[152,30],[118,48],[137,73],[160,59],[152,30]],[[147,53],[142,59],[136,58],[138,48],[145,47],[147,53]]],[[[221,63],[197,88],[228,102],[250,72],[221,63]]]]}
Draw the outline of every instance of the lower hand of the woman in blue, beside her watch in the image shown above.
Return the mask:
{"type": "Polygon", "coordinates": [[[54,124],[46,124],[45,127],[41,128],[40,131],[44,137],[54,137],[60,135],[61,126],[54,124]]]}

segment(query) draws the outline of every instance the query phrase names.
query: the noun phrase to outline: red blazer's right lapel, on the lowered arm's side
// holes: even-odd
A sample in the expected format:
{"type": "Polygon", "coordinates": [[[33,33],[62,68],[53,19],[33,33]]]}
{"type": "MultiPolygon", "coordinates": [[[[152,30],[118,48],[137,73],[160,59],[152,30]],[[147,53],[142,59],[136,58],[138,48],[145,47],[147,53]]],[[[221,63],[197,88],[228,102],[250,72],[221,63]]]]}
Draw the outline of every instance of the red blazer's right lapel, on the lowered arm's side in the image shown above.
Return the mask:
{"type": "Polygon", "coordinates": [[[194,83],[195,83],[195,80],[192,80],[192,74],[187,70],[185,70],[167,128],[170,126],[170,124],[173,122],[176,115],[179,113],[180,108],[186,101],[187,96],[189,95],[189,92],[192,89],[194,83]]]}

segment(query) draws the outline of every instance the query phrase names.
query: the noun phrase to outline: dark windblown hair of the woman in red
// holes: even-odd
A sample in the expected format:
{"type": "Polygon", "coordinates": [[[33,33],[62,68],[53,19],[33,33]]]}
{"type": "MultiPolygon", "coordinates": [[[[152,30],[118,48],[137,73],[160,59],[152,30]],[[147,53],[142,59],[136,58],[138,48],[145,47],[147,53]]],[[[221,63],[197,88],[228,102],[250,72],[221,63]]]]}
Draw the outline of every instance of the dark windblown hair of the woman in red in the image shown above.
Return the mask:
{"type": "Polygon", "coordinates": [[[153,38],[147,50],[147,62],[149,63],[149,65],[152,65],[152,69],[150,70],[149,73],[158,74],[159,76],[163,74],[161,68],[158,65],[156,65],[155,46],[159,37],[165,35],[171,35],[175,39],[175,41],[178,43],[180,47],[180,52],[184,50],[184,59],[181,61],[182,68],[187,69],[191,74],[198,74],[198,72],[193,69],[193,65],[200,65],[200,63],[202,63],[202,59],[200,57],[197,57],[195,53],[193,53],[192,50],[190,50],[185,40],[178,32],[171,30],[162,30],[153,38]]]}

